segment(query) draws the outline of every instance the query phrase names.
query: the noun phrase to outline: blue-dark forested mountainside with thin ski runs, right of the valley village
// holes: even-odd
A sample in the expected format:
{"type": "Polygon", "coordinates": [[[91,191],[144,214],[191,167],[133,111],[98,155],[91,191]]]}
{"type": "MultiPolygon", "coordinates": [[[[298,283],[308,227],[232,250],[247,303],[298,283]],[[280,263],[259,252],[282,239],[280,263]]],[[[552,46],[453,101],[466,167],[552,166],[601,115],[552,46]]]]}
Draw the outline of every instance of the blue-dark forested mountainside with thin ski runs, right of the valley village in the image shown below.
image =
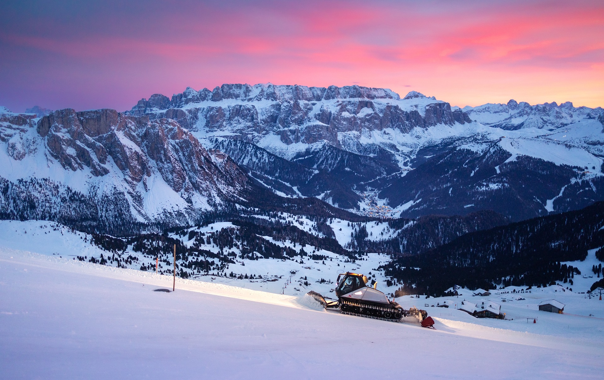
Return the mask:
{"type": "MultiPolygon", "coordinates": [[[[393,207],[411,203],[403,217],[428,214],[464,215],[493,210],[519,221],[545,216],[548,199],[553,211],[585,207],[602,194],[583,178],[582,167],[556,165],[541,158],[512,154],[492,142],[483,150],[462,149],[467,140],[422,148],[411,160],[414,170],[405,176],[372,182],[383,188],[380,198],[393,207]],[[561,188],[568,185],[563,196],[561,188]],[[583,192],[587,188],[588,191],[583,192]]],[[[598,182],[599,183],[599,182],[598,182]]]]}

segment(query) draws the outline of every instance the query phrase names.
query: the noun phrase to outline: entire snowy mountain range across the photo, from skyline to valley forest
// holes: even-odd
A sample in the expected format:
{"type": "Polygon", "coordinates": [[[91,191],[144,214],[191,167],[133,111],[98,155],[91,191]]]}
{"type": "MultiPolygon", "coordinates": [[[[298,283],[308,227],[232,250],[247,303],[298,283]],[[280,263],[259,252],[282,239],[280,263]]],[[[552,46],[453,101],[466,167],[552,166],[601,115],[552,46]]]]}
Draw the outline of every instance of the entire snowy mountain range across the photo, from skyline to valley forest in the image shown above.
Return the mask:
{"type": "Polygon", "coordinates": [[[459,108],[360,86],[223,84],[124,113],[33,110],[45,115],[0,109],[7,219],[187,225],[250,207],[254,188],[368,217],[522,220],[604,199],[603,110],[570,102],[459,108]]]}

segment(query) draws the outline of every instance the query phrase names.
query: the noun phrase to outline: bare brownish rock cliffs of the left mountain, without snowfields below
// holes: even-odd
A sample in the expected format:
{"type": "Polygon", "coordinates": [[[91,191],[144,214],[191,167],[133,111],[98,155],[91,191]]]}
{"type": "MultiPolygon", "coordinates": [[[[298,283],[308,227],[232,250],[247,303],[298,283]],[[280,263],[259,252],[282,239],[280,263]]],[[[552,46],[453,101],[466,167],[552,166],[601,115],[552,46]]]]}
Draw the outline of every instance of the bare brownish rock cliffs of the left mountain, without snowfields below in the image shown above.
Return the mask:
{"type": "Polygon", "coordinates": [[[245,183],[245,176],[233,172],[226,157],[210,157],[199,141],[172,119],[149,120],[115,110],[66,109],[42,117],[36,129],[50,155],[65,169],[88,167],[92,175],[103,176],[110,171],[107,164],[111,157],[132,185],[142,183],[147,189],[147,178],[156,170],[174,192],[197,192],[209,198],[213,198],[213,190],[223,196],[234,195],[236,189],[231,185],[245,183]]]}

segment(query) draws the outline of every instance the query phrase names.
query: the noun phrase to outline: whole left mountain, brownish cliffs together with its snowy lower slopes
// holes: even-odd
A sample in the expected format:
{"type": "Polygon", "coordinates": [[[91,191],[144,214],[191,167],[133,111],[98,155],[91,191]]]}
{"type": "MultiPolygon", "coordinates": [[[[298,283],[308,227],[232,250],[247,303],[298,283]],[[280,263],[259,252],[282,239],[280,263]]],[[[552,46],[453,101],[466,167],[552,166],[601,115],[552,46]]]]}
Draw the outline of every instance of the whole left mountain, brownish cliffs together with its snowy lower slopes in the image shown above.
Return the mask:
{"type": "MultiPolygon", "coordinates": [[[[239,199],[248,187],[233,160],[208,152],[173,119],[65,109],[39,119],[4,114],[0,120],[6,154],[31,170],[23,175],[39,178],[46,166],[86,196],[123,193],[141,223],[186,223],[239,199]]],[[[21,178],[14,170],[4,172],[0,177],[21,178]]]]}

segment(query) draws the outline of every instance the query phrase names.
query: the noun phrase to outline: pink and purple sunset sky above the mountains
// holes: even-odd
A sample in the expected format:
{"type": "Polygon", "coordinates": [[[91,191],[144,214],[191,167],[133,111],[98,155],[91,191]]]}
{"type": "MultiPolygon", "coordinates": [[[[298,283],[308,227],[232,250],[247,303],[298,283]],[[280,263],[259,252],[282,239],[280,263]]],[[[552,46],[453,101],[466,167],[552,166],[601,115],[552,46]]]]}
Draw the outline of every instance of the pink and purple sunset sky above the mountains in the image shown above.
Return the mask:
{"type": "Polygon", "coordinates": [[[604,106],[602,1],[3,1],[0,105],[130,109],[223,83],[604,106]]]}

